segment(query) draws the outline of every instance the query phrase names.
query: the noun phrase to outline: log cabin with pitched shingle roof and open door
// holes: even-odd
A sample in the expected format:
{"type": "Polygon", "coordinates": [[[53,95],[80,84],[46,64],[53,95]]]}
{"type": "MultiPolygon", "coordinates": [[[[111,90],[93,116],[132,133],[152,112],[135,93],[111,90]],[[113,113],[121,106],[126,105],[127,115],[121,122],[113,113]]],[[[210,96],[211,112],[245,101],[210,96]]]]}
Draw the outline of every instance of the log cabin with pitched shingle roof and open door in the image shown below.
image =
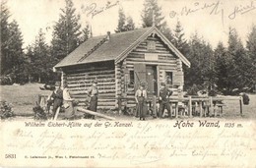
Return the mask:
{"type": "Polygon", "coordinates": [[[142,82],[149,96],[158,96],[161,83],[182,86],[182,66],[190,67],[190,62],[158,28],[151,27],[91,37],[54,70],[62,73],[62,83],[68,84],[80,105],[85,102],[85,90],[97,80],[97,108],[114,109],[120,96],[127,97],[127,107],[135,106],[135,90],[142,82]]]}

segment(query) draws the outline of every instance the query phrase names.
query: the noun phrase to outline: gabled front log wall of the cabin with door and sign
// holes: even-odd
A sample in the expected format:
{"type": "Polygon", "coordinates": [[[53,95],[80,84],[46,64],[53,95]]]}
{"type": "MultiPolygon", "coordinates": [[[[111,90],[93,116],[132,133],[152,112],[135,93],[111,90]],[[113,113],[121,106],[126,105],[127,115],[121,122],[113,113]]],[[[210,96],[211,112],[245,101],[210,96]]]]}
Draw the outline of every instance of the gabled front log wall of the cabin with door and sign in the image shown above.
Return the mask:
{"type": "Polygon", "coordinates": [[[117,65],[121,74],[121,94],[127,97],[127,106],[134,106],[133,97],[140,83],[146,83],[148,93],[158,96],[160,83],[177,87],[184,84],[181,59],[161,40],[158,34],[152,33],[117,65]]]}

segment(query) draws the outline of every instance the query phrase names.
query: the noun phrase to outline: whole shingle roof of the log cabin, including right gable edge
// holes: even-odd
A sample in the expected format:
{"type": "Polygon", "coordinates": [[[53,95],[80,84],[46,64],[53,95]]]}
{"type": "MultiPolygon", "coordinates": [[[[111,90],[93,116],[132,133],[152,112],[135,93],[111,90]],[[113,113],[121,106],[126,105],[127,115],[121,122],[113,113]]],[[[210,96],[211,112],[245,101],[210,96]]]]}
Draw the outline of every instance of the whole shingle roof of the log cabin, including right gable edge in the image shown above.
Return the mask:
{"type": "Polygon", "coordinates": [[[122,60],[127,53],[136,47],[144,38],[152,32],[160,35],[160,38],[188,67],[190,62],[184,57],[156,27],[140,28],[125,32],[110,34],[110,39],[105,41],[106,35],[88,39],[73,52],[61,60],[54,68],[61,68],[77,64],[94,63],[101,61],[122,60]]]}

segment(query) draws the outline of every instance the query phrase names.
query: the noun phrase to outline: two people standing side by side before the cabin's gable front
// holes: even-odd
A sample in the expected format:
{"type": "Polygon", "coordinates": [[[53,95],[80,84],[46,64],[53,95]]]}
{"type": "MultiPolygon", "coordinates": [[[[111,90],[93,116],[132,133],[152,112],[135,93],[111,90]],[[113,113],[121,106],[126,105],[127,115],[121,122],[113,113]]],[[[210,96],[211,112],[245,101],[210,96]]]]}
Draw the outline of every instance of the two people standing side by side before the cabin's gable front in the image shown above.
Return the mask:
{"type": "MultiPolygon", "coordinates": [[[[148,105],[147,105],[147,90],[146,84],[141,83],[139,88],[135,93],[135,100],[137,102],[137,109],[136,109],[136,117],[139,117],[140,120],[145,120],[148,105]]],[[[166,109],[168,112],[168,116],[171,117],[170,114],[170,104],[169,104],[169,97],[172,94],[172,91],[166,87],[166,84],[160,84],[160,96],[159,96],[159,117],[164,118],[163,112],[166,109]]],[[[157,118],[157,114],[154,114],[154,117],[157,118]]]]}

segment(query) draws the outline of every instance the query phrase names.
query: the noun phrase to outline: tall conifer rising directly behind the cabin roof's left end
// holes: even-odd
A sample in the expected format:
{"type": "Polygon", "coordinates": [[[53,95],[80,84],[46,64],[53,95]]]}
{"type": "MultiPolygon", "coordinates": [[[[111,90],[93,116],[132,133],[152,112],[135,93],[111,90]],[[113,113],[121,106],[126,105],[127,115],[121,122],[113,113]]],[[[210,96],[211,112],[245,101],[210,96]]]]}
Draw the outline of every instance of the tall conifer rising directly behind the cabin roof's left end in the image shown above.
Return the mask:
{"type": "Polygon", "coordinates": [[[65,0],[66,7],[61,10],[59,21],[54,26],[52,54],[58,60],[63,59],[72,52],[79,44],[81,35],[80,16],[76,15],[76,9],[71,0],[65,0]]]}

